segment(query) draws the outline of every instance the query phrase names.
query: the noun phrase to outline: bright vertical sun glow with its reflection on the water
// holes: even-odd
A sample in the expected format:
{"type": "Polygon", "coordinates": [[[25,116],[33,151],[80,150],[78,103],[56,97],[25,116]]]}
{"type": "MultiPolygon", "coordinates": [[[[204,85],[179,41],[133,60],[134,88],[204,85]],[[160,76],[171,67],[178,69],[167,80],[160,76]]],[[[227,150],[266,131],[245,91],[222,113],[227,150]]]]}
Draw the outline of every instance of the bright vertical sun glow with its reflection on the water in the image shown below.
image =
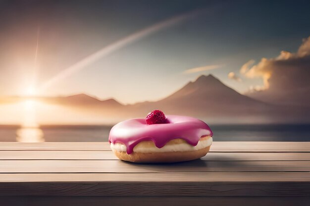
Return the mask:
{"type": "Polygon", "coordinates": [[[37,123],[36,107],[38,102],[32,99],[23,102],[23,121],[16,131],[18,142],[44,142],[44,133],[37,123]]]}

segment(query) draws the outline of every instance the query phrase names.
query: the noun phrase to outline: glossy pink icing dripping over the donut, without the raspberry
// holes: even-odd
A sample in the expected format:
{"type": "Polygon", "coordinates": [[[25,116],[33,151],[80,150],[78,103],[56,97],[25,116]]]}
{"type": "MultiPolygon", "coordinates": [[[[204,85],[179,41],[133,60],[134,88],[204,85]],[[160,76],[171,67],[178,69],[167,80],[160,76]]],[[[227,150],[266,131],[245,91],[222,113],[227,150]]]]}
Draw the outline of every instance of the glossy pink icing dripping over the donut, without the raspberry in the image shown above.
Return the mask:
{"type": "Polygon", "coordinates": [[[172,139],[181,138],[196,146],[202,136],[213,135],[210,127],[201,120],[186,116],[167,115],[166,124],[150,124],[145,119],[131,119],[115,124],[109,142],[126,145],[127,154],[141,141],[152,140],[158,148],[172,139]]]}

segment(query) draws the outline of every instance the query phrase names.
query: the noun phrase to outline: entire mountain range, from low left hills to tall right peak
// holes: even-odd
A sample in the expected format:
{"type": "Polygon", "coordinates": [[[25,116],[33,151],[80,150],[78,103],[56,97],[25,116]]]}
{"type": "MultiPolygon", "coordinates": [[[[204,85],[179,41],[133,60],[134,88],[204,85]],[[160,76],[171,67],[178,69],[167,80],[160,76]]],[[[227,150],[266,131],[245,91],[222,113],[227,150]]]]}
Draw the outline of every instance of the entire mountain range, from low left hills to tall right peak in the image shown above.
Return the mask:
{"type": "Polygon", "coordinates": [[[159,101],[132,105],[123,105],[114,99],[99,100],[86,94],[35,98],[114,120],[145,117],[159,109],[165,114],[194,116],[214,123],[310,122],[309,107],[262,102],[238,93],[212,75],[200,76],[159,101]]]}

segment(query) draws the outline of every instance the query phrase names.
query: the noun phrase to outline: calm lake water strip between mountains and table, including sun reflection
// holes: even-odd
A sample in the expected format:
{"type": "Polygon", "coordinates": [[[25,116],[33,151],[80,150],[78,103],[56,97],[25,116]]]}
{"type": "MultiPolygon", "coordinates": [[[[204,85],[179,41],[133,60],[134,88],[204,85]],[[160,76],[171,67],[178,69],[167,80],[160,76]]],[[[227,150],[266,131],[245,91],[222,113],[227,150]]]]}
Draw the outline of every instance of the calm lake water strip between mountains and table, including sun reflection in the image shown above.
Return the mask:
{"type": "MultiPolygon", "coordinates": [[[[310,124],[210,125],[214,141],[310,141],[310,124]]],[[[4,142],[102,142],[111,126],[41,126],[20,128],[0,125],[4,142]]]]}

